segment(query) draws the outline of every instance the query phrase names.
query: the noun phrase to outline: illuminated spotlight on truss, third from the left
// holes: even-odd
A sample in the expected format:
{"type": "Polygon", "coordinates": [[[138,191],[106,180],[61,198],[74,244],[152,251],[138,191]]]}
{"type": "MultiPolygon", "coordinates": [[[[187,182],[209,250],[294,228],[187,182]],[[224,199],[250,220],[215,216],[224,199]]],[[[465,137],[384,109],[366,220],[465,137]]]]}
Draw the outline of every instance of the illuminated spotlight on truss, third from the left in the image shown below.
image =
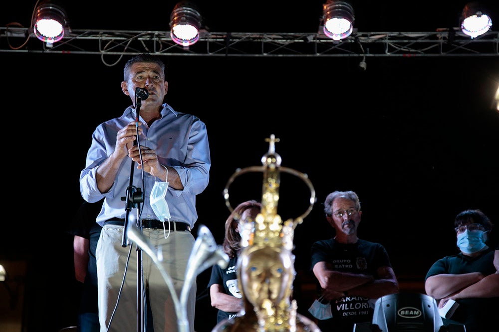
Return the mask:
{"type": "Polygon", "coordinates": [[[346,1],[327,0],[323,4],[324,34],[333,40],[345,39],[353,31],[354,11],[346,1]]]}

